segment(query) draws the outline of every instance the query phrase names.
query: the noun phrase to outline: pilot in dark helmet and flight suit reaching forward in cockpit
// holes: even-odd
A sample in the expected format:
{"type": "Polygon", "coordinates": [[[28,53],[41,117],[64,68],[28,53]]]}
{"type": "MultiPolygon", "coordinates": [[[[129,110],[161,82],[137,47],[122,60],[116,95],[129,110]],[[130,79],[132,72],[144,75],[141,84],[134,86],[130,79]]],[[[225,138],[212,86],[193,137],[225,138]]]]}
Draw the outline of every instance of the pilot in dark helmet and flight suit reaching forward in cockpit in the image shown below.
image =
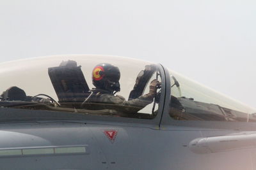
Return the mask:
{"type": "MultiPolygon", "coordinates": [[[[148,94],[126,101],[124,97],[115,95],[116,92],[120,91],[119,80],[120,71],[118,67],[107,63],[95,66],[92,72],[92,82],[95,88],[91,90],[90,96],[85,99],[82,107],[86,108],[88,103],[106,103],[104,108],[109,108],[108,104],[113,108],[112,104],[115,104],[113,109],[116,109],[116,106],[122,106],[122,111],[136,113],[154,101],[157,86],[161,85],[159,81],[153,80],[150,83],[148,94]]],[[[98,104],[97,108],[99,106],[102,107],[102,104],[98,104]]]]}

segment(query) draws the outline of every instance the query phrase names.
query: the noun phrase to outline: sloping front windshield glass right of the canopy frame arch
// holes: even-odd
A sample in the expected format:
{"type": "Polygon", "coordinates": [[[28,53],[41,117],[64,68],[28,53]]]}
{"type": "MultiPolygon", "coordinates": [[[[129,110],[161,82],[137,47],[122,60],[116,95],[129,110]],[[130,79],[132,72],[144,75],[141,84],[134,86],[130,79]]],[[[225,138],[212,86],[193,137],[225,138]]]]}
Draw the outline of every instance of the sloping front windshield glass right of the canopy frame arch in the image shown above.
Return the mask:
{"type": "Polygon", "coordinates": [[[169,70],[175,120],[256,122],[256,110],[169,70]]]}

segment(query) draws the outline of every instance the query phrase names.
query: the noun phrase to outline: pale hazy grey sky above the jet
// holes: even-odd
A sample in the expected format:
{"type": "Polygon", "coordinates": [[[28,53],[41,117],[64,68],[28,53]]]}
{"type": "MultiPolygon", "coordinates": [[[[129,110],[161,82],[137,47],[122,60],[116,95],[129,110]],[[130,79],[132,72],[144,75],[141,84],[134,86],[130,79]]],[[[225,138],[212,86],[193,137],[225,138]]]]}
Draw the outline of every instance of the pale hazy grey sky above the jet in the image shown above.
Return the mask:
{"type": "Polygon", "coordinates": [[[0,1],[0,62],[106,54],[161,63],[256,108],[256,1],[0,1]]]}

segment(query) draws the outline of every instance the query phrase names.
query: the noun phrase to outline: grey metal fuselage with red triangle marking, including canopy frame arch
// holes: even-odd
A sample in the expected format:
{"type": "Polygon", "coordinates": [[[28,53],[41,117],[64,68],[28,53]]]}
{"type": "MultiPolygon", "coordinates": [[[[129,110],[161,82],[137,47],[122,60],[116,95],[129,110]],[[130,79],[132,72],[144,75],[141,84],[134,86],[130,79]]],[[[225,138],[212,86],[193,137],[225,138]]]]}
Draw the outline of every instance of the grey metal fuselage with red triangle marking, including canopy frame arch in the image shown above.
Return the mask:
{"type": "Polygon", "coordinates": [[[0,108],[0,169],[256,169],[255,123],[174,120],[158,66],[153,119],[0,108]]]}

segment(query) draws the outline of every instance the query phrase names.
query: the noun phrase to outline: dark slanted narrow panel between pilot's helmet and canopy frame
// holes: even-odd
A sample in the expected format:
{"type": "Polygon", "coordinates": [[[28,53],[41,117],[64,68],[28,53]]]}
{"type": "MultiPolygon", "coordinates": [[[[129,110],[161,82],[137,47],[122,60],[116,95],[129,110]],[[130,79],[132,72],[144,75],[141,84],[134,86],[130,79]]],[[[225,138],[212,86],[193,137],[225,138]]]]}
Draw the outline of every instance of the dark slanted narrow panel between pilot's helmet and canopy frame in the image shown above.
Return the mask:
{"type": "Polygon", "coordinates": [[[128,100],[136,99],[143,94],[148,81],[150,80],[152,75],[156,72],[156,69],[157,69],[156,65],[150,64],[145,66],[144,70],[140,71],[140,73],[136,78],[136,83],[133,87],[133,90],[130,92],[128,100]]]}

